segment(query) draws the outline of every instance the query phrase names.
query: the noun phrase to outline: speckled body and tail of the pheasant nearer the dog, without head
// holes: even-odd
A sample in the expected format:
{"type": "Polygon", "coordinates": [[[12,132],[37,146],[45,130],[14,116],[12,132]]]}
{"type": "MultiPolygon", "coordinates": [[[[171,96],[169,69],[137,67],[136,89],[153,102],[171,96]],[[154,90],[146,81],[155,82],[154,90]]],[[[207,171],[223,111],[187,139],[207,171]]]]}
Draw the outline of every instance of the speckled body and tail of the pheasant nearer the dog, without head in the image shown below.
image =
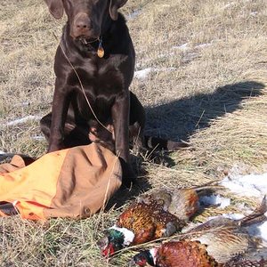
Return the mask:
{"type": "Polygon", "coordinates": [[[132,245],[169,237],[181,231],[198,211],[198,194],[213,184],[176,190],[157,190],[142,195],[117,220],[118,227],[134,231],[132,245]]]}

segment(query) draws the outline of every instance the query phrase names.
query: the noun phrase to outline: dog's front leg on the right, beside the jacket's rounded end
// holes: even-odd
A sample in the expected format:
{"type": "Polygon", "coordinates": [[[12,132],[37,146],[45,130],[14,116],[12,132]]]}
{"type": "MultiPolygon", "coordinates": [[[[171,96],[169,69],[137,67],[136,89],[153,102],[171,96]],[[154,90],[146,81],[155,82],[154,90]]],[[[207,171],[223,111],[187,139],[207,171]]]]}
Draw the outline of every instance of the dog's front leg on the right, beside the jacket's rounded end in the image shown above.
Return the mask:
{"type": "Polygon", "coordinates": [[[128,186],[134,179],[129,165],[129,92],[120,93],[112,107],[115,150],[123,168],[123,183],[128,186]]]}

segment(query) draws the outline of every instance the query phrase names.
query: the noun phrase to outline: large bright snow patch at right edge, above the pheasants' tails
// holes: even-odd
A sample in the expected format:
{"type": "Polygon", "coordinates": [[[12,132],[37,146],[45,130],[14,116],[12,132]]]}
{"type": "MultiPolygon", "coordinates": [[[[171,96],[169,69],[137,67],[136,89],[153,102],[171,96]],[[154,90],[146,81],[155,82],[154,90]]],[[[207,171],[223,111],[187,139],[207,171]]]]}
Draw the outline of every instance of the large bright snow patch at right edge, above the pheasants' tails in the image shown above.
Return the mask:
{"type": "Polygon", "coordinates": [[[247,197],[263,198],[267,194],[267,173],[229,175],[221,184],[232,192],[247,197]]]}

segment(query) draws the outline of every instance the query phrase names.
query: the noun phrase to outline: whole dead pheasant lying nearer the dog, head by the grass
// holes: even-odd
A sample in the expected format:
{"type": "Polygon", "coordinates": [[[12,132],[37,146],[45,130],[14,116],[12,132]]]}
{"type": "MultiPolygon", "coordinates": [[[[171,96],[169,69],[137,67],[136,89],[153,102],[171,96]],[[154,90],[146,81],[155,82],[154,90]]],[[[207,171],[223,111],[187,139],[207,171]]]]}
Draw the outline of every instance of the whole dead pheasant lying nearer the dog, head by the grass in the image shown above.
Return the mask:
{"type": "Polygon", "coordinates": [[[188,189],[158,190],[137,198],[98,241],[101,255],[113,255],[123,247],[169,237],[181,231],[198,211],[199,195],[218,187],[213,183],[188,189]]]}

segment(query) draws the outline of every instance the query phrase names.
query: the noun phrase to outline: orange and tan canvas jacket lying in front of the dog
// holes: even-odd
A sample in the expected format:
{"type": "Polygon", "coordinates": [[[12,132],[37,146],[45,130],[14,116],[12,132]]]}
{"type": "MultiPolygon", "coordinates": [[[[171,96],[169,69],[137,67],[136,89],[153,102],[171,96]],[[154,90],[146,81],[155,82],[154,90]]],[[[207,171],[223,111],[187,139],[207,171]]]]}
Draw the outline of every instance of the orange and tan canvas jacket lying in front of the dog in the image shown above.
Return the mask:
{"type": "Polygon", "coordinates": [[[28,166],[15,156],[0,166],[0,202],[12,203],[25,219],[85,218],[105,205],[121,176],[118,158],[96,143],[45,154],[28,166]]]}

